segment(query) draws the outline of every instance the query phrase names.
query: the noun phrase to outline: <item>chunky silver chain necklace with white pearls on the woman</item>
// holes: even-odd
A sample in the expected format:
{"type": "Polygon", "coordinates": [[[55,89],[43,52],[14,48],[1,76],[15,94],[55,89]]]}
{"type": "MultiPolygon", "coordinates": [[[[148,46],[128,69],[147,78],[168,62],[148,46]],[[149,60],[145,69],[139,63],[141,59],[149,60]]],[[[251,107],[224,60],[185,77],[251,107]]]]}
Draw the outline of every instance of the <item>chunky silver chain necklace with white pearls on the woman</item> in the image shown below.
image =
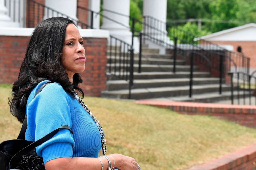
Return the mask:
{"type": "Polygon", "coordinates": [[[78,93],[75,92],[75,90],[74,90],[74,94],[75,94],[75,98],[78,101],[78,103],[80,103],[80,105],[85,109],[85,111],[92,117],[93,121],[96,123],[96,126],[100,131],[102,154],[106,155],[106,151],[107,151],[106,141],[107,140],[105,139],[105,133],[102,130],[102,127],[100,125],[100,121],[98,121],[96,119],[96,117],[93,116],[92,112],[87,108],[87,105],[85,105],[84,102],[80,99],[80,97],[78,96],[78,93]]]}

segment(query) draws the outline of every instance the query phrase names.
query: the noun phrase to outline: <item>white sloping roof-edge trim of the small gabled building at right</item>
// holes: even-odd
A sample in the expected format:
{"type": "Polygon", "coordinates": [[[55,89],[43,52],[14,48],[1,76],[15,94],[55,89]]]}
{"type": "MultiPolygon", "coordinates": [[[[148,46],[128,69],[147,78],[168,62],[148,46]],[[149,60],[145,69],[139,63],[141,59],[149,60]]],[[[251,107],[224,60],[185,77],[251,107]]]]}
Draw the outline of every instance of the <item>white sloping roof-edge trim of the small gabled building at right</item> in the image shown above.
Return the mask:
{"type": "Polygon", "coordinates": [[[242,29],[249,28],[249,27],[255,27],[256,28],[256,24],[255,23],[249,23],[249,24],[245,24],[245,25],[242,25],[242,26],[239,26],[239,27],[234,27],[234,28],[230,28],[230,29],[227,29],[227,30],[215,32],[215,33],[212,33],[212,34],[209,34],[209,35],[206,35],[206,36],[194,38],[194,41],[216,37],[216,36],[219,36],[219,35],[223,35],[223,34],[226,34],[226,33],[229,33],[229,32],[234,32],[234,31],[237,31],[237,30],[242,30],[242,29]]]}

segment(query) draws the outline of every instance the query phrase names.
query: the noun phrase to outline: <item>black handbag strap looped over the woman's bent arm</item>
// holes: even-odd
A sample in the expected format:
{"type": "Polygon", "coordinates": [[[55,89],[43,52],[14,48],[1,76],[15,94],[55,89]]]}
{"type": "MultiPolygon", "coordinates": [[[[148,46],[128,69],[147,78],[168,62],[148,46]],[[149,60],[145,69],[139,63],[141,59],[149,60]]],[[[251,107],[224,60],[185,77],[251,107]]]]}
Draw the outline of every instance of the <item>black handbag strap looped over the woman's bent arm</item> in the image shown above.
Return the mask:
{"type": "MultiPolygon", "coordinates": [[[[9,169],[11,168],[13,162],[15,162],[18,158],[20,158],[20,157],[23,155],[23,153],[25,153],[25,152],[27,152],[27,151],[29,151],[29,150],[31,150],[31,149],[34,149],[35,147],[37,147],[37,146],[41,145],[42,143],[46,142],[47,140],[51,139],[55,134],[57,134],[57,132],[58,132],[60,129],[68,129],[68,130],[70,130],[70,132],[73,134],[71,128],[70,128],[68,125],[62,125],[62,126],[60,126],[60,128],[55,129],[55,130],[52,131],[51,133],[45,135],[43,138],[41,138],[41,139],[39,139],[39,140],[37,140],[37,141],[35,141],[35,142],[33,142],[33,143],[31,143],[30,145],[28,145],[28,146],[26,146],[25,148],[23,148],[22,150],[20,150],[17,154],[15,154],[15,155],[11,158],[11,160],[10,160],[10,162],[9,162],[9,169]]],[[[74,136],[74,134],[73,134],[73,136],[74,136]]]]}

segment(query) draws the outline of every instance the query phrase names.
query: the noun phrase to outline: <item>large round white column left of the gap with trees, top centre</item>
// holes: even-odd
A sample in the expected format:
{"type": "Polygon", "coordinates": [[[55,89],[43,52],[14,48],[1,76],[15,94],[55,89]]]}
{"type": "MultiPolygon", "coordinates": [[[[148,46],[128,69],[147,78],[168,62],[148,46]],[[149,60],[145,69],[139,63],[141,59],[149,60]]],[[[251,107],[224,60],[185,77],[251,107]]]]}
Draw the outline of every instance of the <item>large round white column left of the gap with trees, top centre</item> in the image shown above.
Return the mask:
{"type": "MultiPolygon", "coordinates": [[[[130,0],[104,0],[103,9],[118,12],[124,15],[130,15],[130,0]]],[[[125,41],[128,44],[132,44],[132,33],[129,27],[129,18],[126,16],[121,16],[111,12],[103,11],[103,15],[110,19],[113,19],[121,24],[115,23],[107,18],[103,17],[103,23],[101,29],[109,30],[110,35],[125,41]],[[123,26],[124,25],[124,26],[123,26]],[[126,27],[125,27],[126,26],[126,27]]],[[[134,42],[135,44],[138,44],[134,42]]],[[[134,45],[135,45],[134,44],[134,45]]],[[[136,51],[136,47],[134,50],[136,51]]]]}

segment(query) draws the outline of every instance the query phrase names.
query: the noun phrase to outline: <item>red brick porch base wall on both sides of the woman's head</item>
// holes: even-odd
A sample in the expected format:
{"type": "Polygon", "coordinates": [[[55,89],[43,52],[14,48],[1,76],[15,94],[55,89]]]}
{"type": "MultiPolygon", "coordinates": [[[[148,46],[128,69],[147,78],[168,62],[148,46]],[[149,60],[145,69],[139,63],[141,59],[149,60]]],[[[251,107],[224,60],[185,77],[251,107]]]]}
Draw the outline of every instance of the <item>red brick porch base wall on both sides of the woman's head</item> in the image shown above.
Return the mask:
{"type": "MultiPolygon", "coordinates": [[[[107,39],[83,38],[85,41],[86,67],[81,73],[81,88],[86,96],[100,96],[106,88],[107,39]]],[[[0,36],[0,83],[12,84],[19,69],[29,37],[0,36]]]]}

